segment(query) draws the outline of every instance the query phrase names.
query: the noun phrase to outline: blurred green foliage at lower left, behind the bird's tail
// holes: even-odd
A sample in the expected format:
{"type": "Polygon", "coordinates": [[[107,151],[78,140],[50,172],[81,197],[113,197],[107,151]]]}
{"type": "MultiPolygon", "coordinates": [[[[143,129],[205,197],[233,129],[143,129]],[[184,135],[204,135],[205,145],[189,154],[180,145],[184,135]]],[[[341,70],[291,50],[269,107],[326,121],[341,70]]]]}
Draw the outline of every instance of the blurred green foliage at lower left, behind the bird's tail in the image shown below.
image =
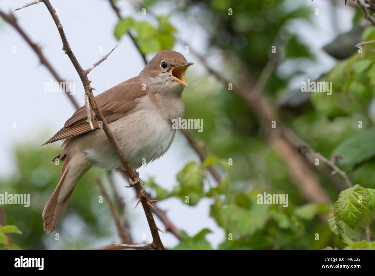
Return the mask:
{"type": "Polygon", "coordinates": [[[112,237],[116,230],[107,204],[98,203],[101,195],[95,177],[102,171],[91,169],[80,180],[68,208],[54,234],[43,231],[42,211],[60,180],[61,166],[51,163],[60,153],[58,147],[39,147],[40,141],[28,141],[15,147],[16,170],[6,179],[0,178],[0,193],[30,194],[30,206],[0,205],[7,223],[15,224],[22,235],[12,236],[14,243],[28,249],[72,249],[92,246],[96,240],[112,237]],[[112,227],[111,227],[112,226],[112,227]],[[74,231],[73,231],[74,229],[74,231]],[[78,235],[77,235],[78,234],[78,235]]]}

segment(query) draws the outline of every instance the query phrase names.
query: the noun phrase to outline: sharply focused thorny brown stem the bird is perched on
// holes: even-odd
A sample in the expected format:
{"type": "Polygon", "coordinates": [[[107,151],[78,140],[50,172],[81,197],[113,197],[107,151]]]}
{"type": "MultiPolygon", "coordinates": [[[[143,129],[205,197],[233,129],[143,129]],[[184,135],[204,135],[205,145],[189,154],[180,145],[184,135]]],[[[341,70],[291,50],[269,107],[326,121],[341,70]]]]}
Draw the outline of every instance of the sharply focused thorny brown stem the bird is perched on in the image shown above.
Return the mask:
{"type": "MultiPolygon", "coordinates": [[[[144,208],[144,211],[145,211],[145,214],[146,214],[146,217],[147,217],[147,221],[148,221],[148,225],[150,227],[151,235],[153,237],[153,243],[152,243],[151,247],[153,247],[156,250],[163,250],[164,246],[163,246],[163,244],[160,240],[159,233],[157,232],[158,228],[156,226],[156,223],[155,223],[154,218],[152,216],[152,213],[150,211],[150,207],[147,206],[147,204],[144,204],[145,202],[147,202],[147,193],[142,189],[142,186],[141,186],[138,175],[136,175],[136,172],[133,171],[133,169],[130,167],[129,161],[124,156],[124,154],[123,154],[123,152],[120,148],[120,145],[118,144],[118,141],[114,138],[113,133],[112,133],[110,127],[108,126],[107,121],[105,120],[104,116],[102,115],[101,111],[99,110],[98,106],[96,105],[94,95],[92,93],[92,87],[90,86],[90,81],[87,78],[87,73],[82,69],[80,63],[78,63],[77,58],[73,54],[73,52],[72,52],[72,50],[69,46],[68,40],[66,39],[65,33],[63,31],[63,26],[60,23],[60,20],[58,19],[58,16],[56,15],[55,10],[51,6],[51,3],[49,3],[49,0],[41,0],[41,1],[46,5],[49,13],[51,14],[51,16],[52,16],[52,18],[55,22],[55,25],[58,29],[58,32],[59,32],[60,37],[61,37],[62,42],[63,42],[63,50],[65,51],[65,53],[70,58],[74,68],[76,69],[78,75],[80,76],[81,82],[82,82],[82,84],[84,86],[84,89],[85,89],[85,93],[89,97],[89,103],[90,103],[90,106],[91,106],[92,110],[95,112],[98,119],[103,122],[103,130],[104,130],[105,134],[107,135],[108,139],[110,140],[111,144],[113,145],[116,153],[118,154],[118,157],[120,158],[121,163],[123,164],[124,168],[126,169],[127,174],[129,175],[129,178],[133,182],[136,182],[136,184],[134,185],[135,189],[137,190],[137,192],[139,192],[139,194],[142,194],[143,197],[145,198],[145,200],[142,200],[142,206],[144,208]]],[[[36,2],[39,3],[39,1],[35,1],[35,3],[36,2]]],[[[30,4],[30,5],[32,5],[32,4],[30,4]]]]}

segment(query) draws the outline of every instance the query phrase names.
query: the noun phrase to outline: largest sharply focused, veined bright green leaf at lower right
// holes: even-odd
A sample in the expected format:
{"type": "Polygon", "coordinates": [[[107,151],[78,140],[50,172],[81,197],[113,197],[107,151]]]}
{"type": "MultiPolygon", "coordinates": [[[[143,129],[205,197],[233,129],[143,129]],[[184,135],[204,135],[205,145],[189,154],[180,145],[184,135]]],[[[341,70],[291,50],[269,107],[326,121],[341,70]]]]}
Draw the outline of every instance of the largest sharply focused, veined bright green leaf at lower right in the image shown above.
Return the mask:
{"type": "Polygon", "coordinates": [[[334,208],[336,220],[342,220],[352,229],[356,228],[357,224],[367,228],[371,221],[367,192],[359,185],[343,190],[334,208]]]}

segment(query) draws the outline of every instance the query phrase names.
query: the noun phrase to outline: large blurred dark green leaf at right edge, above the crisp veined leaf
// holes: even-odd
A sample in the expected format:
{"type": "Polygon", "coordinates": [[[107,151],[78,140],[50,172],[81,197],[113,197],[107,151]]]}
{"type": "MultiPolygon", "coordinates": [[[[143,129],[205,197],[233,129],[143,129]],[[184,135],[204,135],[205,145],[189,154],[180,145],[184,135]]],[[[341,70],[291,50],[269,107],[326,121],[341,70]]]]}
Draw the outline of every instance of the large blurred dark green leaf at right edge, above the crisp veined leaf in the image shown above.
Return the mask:
{"type": "Polygon", "coordinates": [[[375,155],[375,129],[351,136],[333,151],[342,156],[340,164],[354,166],[375,155]]]}

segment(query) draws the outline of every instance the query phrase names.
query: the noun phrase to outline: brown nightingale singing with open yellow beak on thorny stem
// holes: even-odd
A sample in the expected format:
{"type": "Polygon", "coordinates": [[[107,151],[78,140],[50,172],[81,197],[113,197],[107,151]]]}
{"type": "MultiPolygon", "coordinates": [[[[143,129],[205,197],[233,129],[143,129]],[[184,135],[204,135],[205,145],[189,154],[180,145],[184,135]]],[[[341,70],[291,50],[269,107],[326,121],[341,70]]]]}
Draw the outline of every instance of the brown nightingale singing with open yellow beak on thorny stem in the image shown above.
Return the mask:
{"type": "MultiPolygon", "coordinates": [[[[117,84],[95,97],[113,135],[133,169],[158,159],[168,150],[175,135],[172,119],[183,117],[181,94],[188,87],[184,78],[187,63],[182,54],[160,51],[137,77],[117,84]]],[[[124,170],[124,166],[94,116],[86,123],[86,107],[77,110],[64,127],[45,144],[63,140],[64,162],[60,181],[43,209],[43,228],[54,233],[74,188],[91,167],[124,170]]],[[[130,183],[130,181],[129,181],[130,183]]]]}

